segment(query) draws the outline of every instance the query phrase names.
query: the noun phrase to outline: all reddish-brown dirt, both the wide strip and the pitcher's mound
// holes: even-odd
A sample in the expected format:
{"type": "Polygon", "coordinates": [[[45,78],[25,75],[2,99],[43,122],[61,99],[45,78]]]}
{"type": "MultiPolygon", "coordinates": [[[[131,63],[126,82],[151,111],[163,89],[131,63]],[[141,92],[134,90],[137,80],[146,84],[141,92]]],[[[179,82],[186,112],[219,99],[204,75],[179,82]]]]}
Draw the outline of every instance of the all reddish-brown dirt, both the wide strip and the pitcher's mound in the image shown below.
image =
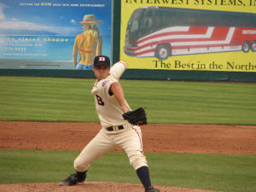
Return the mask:
{"type": "MultiPolygon", "coordinates": [[[[0,148],[80,151],[99,130],[98,123],[0,121],[0,148]]],[[[143,125],[142,130],[144,152],[256,154],[256,126],[153,124],[143,125]]],[[[207,191],[164,186],[159,188],[161,191],[175,192],[207,191]]],[[[143,191],[143,188],[131,183],[88,182],[73,187],[59,187],[57,183],[1,184],[0,190],[137,192],[143,191]]]]}

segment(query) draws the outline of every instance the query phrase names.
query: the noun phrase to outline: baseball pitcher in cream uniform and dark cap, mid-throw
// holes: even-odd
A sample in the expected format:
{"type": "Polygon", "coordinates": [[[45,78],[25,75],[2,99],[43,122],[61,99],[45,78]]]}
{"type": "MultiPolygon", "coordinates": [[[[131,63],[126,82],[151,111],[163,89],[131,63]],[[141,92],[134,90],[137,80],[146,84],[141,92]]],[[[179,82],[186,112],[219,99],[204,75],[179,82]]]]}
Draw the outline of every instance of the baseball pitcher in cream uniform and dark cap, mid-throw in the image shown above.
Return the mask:
{"type": "Polygon", "coordinates": [[[96,112],[102,129],[74,160],[76,172],[64,179],[60,185],[84,182],[90,164],[119,146],[128,155],[145,192],[160,192],[160,189],[151,185],[148,162],[143,154],[142,131],[139,125],[147,124],[146,113],[143,108],[131,110],[119,84],[126,69],[125,62],[119,61],[110,67],[108,56],[98,55],[92,69],[96,75],[96,83],[91,93],[95,97],[96,112]]]}

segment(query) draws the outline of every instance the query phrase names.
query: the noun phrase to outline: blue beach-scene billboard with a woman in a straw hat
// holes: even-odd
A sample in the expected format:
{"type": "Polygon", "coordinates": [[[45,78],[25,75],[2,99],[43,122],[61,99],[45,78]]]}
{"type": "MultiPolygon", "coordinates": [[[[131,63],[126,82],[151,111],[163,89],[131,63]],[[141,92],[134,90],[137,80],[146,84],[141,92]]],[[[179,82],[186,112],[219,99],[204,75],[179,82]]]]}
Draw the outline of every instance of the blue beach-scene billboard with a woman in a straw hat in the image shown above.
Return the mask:
{"type": "Polygon", "coordinates": [[[111,11],[112,0],[0,0],[0,68],[84,69],[110,57],[111,11]]]}

